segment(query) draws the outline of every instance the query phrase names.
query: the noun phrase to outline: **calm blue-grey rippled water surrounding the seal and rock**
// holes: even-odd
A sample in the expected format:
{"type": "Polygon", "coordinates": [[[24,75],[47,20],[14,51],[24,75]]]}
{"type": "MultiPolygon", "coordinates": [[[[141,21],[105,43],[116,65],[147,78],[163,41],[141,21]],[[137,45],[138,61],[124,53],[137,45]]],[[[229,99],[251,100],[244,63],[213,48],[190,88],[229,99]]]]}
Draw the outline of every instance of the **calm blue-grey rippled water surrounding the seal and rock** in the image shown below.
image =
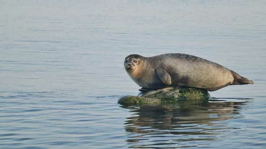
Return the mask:
{"type": "Polygon", "coordinates": [[[0,148],[265,148],[266,1],[0,1],[0,148]],[[196,55],[254,85],[125,107],[129,54],[196,55]]]}

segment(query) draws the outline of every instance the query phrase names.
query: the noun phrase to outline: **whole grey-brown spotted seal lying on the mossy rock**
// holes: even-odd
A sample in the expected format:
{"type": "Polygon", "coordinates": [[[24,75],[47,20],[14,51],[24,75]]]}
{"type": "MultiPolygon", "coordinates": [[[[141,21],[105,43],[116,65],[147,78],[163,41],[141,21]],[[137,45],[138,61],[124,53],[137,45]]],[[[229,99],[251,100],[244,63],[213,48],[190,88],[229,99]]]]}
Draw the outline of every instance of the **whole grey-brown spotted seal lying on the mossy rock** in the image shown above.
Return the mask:
{"type": "Polygon", "coordinates": [[[148,91],[165,87],[195,87],[216,91],[229,85],[254,84],[215,62],[181,53],[144,57],[131,54],[125,58],[127,74],[141,89],[148,91]]]}

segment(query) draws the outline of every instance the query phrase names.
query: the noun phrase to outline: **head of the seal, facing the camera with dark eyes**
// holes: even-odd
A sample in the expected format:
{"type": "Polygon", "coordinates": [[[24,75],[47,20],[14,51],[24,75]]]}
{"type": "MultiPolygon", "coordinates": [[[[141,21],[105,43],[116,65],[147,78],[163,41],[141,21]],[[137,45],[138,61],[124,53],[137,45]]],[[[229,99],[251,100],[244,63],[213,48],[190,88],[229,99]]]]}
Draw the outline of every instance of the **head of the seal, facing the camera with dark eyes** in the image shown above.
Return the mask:
{"type": "Polygon", "coordinates": [[[137,75],[143,66],[144,57],[138,54],[131,54],[125,58],[124,67],[128,74],[137,75]]]}

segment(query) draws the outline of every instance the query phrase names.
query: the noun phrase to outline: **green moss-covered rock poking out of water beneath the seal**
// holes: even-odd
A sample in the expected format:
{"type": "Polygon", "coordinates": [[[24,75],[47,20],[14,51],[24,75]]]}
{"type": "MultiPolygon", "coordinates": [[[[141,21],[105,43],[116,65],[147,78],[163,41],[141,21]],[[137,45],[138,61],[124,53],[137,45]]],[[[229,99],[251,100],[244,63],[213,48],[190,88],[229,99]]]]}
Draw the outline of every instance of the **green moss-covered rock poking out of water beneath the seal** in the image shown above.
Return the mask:
{"type": "Polygon", "coordinates": [[[174,103],[180,100],[208,99],[209,93],[204,89],[192,87],[167,87],[159,90],[140,92],[138,96],[123,96],[119,104],[160,104],[174,103]]]}

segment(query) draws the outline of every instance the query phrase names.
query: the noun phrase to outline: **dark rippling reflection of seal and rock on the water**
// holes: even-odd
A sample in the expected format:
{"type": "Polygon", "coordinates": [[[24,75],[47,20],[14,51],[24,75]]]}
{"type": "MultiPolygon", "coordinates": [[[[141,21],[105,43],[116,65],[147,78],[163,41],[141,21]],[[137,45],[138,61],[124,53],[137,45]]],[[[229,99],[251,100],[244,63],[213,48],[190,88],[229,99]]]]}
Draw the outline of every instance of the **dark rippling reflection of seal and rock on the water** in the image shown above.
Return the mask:
{"type": "Polygon", "coordinates": [[[175,105],[122,106],[134,113],[124,126],[126,141],[132,148],[206,146],[240,129],[229,127],[226,120],[243,118],[242,108],[251,101],[213,98],[175,105]]]}

